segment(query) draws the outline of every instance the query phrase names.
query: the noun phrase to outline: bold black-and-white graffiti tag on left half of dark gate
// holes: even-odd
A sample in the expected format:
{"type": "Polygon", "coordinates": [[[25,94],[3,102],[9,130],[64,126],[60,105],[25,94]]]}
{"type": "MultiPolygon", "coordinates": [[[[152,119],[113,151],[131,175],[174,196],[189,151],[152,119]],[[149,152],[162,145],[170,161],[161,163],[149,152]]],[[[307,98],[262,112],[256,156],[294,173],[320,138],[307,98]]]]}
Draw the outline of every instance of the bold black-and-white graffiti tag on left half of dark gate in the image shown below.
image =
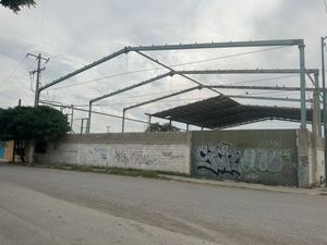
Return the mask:
{"type": "Polygon", "coordinates": [[[205,169],[216,175],[241,174],[241,151],[234,149],[230,144],[202,145],[196,148],[195,159],[197,170],[205,169]]]}

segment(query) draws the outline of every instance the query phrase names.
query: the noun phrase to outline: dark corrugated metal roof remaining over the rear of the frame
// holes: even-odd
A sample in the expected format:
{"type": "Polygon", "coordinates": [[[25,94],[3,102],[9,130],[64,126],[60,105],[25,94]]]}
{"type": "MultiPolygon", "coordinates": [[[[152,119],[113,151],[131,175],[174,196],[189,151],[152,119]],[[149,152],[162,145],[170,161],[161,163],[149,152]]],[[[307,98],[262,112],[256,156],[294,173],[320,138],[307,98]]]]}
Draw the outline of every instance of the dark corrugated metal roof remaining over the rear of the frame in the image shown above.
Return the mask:
{"type": "MultiPolygon", "coordinates": [[[[307,121],[312,121],[312,110],[307,110],[306,114],[307,121]]],[[[245,106],[220,95],[157,112],[152,117],[214,130],[269,119],[300,121],[301,111],[298,108],[245,106]]]]}

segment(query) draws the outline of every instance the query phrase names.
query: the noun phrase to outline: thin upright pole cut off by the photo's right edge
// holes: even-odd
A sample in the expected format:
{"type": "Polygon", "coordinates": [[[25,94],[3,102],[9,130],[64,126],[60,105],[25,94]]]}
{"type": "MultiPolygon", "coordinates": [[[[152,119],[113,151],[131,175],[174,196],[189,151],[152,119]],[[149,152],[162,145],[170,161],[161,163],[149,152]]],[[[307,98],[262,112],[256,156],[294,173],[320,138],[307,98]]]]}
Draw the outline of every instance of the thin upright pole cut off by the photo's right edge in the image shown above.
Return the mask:
{"type": "Polygon", "coordinates": [[[325,39],[327,36],[322,37],[322,79],[323,79],[323,120],[324,120],[324,138],[325,138],[325,185],[327,186],[327,144],[326,144],[326,124],[327,124],[327,113],[326,113],[326,83],[325,83],[325,39]]]}

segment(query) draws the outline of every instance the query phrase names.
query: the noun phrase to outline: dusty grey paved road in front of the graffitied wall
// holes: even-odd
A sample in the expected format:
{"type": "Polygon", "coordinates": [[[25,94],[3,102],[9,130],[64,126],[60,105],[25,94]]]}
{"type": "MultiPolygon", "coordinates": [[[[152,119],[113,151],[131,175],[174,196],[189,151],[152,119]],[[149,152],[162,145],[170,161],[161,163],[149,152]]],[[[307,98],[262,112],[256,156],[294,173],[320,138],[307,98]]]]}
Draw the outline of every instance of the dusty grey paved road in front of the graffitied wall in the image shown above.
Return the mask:
{"type": "Polygon", "coordinates": [[[327,196],[0,164],[0,244],[327,244],[327,196]]]}

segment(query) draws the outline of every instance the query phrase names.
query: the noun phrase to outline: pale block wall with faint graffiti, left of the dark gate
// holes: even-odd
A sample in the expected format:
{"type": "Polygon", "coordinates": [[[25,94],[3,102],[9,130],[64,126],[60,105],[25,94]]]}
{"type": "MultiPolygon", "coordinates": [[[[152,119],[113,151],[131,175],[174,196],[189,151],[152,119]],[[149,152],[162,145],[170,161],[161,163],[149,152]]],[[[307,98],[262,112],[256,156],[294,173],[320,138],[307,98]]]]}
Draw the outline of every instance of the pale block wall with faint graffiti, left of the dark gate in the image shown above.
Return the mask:
{"type": "Polygon", "coordinates": [[[70,135],[36,155],[36,162],[88,164],[190,173],[191,134],[70,135]]]}

